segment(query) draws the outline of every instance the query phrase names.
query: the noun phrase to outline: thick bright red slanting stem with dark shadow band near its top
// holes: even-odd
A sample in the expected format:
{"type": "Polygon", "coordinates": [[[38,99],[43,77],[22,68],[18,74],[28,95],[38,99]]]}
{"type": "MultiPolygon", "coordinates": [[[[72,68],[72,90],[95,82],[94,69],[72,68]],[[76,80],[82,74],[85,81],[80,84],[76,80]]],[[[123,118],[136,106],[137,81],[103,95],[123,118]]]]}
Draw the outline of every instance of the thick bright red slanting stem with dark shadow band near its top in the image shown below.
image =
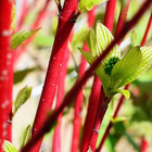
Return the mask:
{"type": "MultiPolygon", "coordinates": [[[[60,72],[62,69],[63,59],[65,56],[65,49],[67,47],[69,34],[74,26],[72,20],[74,17],[74,13],[77,11],[77,7],[78,0],[66,0],[60,14],[59,26],[49,62],[49,67],[34,122],[33,136],[35,136],[41,128],[47,118],[47,112],[52,107],[56,87],[59,86],[59,78],[61,75],[60,72]]],[[[33,151],[38,152],[41,142],[42,137],[41,140],[35,144],[33,151]]]]}

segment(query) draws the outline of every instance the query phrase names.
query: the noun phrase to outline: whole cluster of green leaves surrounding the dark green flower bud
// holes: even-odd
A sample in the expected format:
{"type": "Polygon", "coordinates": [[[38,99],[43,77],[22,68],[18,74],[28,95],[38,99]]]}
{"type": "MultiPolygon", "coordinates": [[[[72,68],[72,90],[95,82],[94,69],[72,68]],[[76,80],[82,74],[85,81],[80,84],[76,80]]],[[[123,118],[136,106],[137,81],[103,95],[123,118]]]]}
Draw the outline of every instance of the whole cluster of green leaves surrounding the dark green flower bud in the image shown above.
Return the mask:
{"type": "MultiPolygon", "coordinates": [[[[79,49],[81,54],[91,65],[97,56],[99,56],[105,48],[113,40],[113,36],[110,30],[101,23],[97,24],[97,49],[92,54],[79,49]]],[[[92,51],[91,51],[92,52],[92,51]]],[[[129,92],[127,90],[121,90],[119,88],[137,79],[143,74],[152,63],[152,47],[134,47],[123,58],[121,56],[119,47],[116,45],[102,63],[96,69],[96,74],[102,81],[104,92],[106,97],[111,98],[115,93],[123,93],[127,99],[129,92]],[[113,59],[119,59],[113,64],[113,59]]]]}

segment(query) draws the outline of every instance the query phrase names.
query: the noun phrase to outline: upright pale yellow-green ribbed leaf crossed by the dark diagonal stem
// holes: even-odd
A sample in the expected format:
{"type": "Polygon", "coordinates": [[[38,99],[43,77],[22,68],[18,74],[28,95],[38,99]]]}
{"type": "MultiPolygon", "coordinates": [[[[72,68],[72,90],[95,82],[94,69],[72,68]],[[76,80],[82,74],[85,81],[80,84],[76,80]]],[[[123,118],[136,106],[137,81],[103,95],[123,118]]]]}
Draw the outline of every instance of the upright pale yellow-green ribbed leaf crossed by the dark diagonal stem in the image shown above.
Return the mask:
{"type": "MultiPolygon", "coordinates": [[[[114,39],[111,31],[101,23],[97,24],[97,52],[96,55],[100,55],[106,47],[114,39]]],[[[107,62],[112,56],[121,58],[119,47],[116,45],[110,52],[110,54],[103,60],[103,62],[107,62]]]]}

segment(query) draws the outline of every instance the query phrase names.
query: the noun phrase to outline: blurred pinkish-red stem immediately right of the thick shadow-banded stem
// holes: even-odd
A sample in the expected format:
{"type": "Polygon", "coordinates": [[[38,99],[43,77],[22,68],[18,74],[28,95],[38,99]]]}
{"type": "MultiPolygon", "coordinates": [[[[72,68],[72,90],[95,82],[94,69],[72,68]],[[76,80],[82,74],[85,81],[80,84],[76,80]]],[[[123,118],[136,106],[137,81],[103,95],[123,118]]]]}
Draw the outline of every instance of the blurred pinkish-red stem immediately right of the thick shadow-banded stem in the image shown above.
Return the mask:
{"type": "MultiPolygon", "coordinates": [[[[64,86],[65,86],[65,77],[67,72],[67,62],[69,58],[69,50],[66,49],[66,56],[64,59],[64,63],[61,71],[61,78],[60,78],[60,85],[58,88],[58,94],[56,94],[56,105],[55,110],[59,109],[59,106],[62,104],[62,100],[64,97],[64,86]]],[[[62,113],[58,117],[58,125],[54,130],[53,136],[53,152],[61,152],[61,124],[62,124],[62,113]]]]}

